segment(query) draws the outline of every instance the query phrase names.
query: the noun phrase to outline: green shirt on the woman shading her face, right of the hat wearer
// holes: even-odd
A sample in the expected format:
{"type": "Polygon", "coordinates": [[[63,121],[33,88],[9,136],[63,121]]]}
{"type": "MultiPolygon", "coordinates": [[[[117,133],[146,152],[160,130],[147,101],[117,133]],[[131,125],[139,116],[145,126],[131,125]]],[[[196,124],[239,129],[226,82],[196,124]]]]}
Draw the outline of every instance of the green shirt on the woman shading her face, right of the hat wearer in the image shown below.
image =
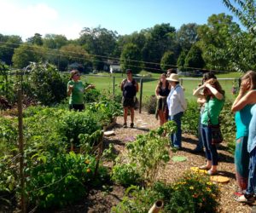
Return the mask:
{"type": "Polygon", "coordinates": [[[218,124],[218,116],[224,106],[224,98],[218,100],[218,98],[213,97],[205,104],[204,112],[201,115],[201,124],[208,125],[209,115],[211,124],[218,124]]]}

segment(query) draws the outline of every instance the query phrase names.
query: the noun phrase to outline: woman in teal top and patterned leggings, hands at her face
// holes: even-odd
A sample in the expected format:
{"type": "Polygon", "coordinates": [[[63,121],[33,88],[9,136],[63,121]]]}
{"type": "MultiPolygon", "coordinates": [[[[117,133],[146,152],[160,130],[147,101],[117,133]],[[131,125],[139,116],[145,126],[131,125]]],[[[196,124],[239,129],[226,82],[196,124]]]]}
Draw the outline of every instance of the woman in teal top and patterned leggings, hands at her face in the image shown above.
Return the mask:
{"type": "MultiPolygon", "coordinates": [[[[239,191],[236,192],[235,195],[238,197],[243,195],[246,192],[246,189],[248,187],[249,159],[250,159],[250,153],[253,151],[253,149],[250,149],[249,151],[247,151],[247,147],[250,146],[249,140],[248,140],[249,135],[251,134],[250,144],[253,141],[253,137],[255,137],[255,135],[252,137],[253,122],[254,122],[252,120],[252,116],[253,116],[253,106],[255,105],[255,103],[256,103],[256,73],[253,71],[248,71],[241,78],[241,86],[240,86],[239,94],[237,95],[236,100],[234,101],[231,107],[231,111],[236,112],[235,114],[235,120],[236,120],[235,169],[236,169],[236,181],[239,187],[239,191]]],[[[256,184],[254,184],[254,187],[256,187],[256,184]]],[[[252,190],[250,189],[249,191],[252,191],[252,190]]]]}

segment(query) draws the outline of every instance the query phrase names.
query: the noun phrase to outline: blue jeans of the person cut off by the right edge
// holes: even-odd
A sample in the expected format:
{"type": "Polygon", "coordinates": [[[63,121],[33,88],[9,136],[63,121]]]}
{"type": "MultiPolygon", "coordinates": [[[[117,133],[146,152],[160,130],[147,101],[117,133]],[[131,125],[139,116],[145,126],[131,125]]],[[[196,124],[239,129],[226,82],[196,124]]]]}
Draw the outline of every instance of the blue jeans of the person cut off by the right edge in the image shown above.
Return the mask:
{"type": "Polygon", "coordinates": [[[256,147],[250,153],[247,194],[256,193],[256,147]]]}

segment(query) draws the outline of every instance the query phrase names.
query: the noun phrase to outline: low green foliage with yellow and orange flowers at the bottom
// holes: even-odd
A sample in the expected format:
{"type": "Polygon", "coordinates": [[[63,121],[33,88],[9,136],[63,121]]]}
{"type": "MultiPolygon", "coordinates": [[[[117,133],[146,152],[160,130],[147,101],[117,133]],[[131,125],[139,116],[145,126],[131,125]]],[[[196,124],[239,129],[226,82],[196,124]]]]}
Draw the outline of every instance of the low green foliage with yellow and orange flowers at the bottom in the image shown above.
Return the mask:
{"type": "Polygon", "coordinates": [[[208,176],[185,173],[180,179],[166,185],[156,182],[153,187],[140,189],[129,187],[125,197],[111,212],[148,212],[156,200],[164,202],[163,213],[167,212],[216,212],[219,190],[208,176]]]}

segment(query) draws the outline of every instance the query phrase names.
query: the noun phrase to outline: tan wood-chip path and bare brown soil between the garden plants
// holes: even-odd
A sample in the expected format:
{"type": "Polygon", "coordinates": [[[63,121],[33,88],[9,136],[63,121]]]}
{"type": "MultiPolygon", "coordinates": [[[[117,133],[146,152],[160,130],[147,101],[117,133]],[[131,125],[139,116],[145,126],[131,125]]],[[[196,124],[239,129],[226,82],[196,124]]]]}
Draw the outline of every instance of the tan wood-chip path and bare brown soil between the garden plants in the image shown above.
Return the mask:
{"type": "MultiPolygon", "coordinates": [[[[112,143],[116,152],[119,153],[125,149],[125,144],[133,141],[136,135],[145,134],[149,130],[154,130],[159,127],[159,121],[154,118],[154,115],[149,115],[147,112],[141,114],[136,112],[135,127],[122,128],[123,118],[117,118],[117,124],[113,126],[112,130],[115,135],[104,138],[104,143],[112,143]]],[[[128,126],[130,125],[130,118],[128,119],[128,126]]],[[[172,182],[177,177],[182,176],[185,170],[190,170],[190,167],[200,166],[205,164],[205,155],[191,153],[195,148],[197,138],[194,135],[183,134],[183,149],[177,153],[170,151],[171,158],[173,156],[183,156],[187,161],[173,162],[172,159],[166,165],[165,170],[159,174],[159,179],[166,182],[172,182]]],[[[225,143],[218,147],[219,165],[218,174],[229,177],[230,181],[226,184],[219,184],[221,190],[219,212],[256,212],[256,203],[252,205],[239,204],[233,199],[233,193],[236,191],[236,177],[234,169],[233,155],[226,151],[225,143]],[[252,211],[253,210],[253,211],[252,211]]],[[[106,165],[111,167],[111,163],[106,162],[106,165]]],[[[58,212],[110,212],[111,207],[118,204],[122,199],[125,189],[120,186],[113,186],[111,190],[102,192],[101,190],[92,190],[89,196],[81,203],[73,205],[73,208],[67,208],[58,212]]],[[[150,208],[148,206],[148,208],[150,208]]],[[[56,211],[55,211],[56,212],[56,211]]]]}

